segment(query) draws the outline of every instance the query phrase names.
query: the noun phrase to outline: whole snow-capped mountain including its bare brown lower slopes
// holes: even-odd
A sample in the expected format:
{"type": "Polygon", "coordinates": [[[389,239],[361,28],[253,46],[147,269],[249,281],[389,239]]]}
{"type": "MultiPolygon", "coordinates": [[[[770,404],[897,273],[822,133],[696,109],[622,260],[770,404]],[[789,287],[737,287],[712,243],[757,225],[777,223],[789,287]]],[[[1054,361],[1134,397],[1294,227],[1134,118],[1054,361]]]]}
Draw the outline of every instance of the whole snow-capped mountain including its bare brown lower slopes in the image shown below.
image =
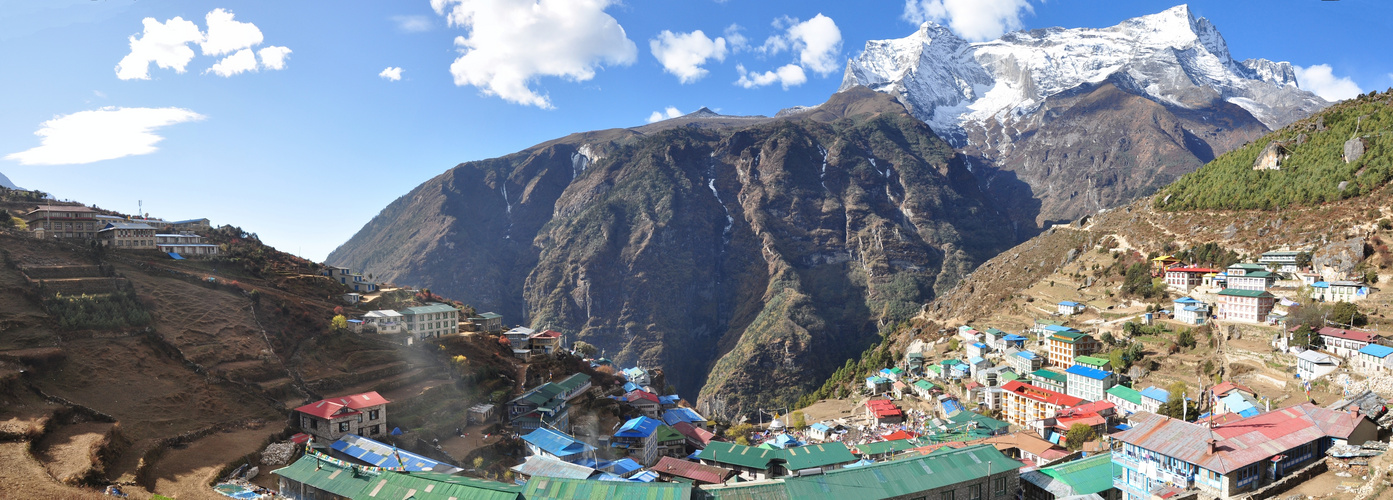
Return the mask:
{"type": "Polygon", "coordinates": [[[1021,235],[1151,195],[1328,106],[1289,63],[1236,61],[1187,6],[968,43],[926,22],[866,42],[841,89],[894,95],[953,143],[1021,235]]]}

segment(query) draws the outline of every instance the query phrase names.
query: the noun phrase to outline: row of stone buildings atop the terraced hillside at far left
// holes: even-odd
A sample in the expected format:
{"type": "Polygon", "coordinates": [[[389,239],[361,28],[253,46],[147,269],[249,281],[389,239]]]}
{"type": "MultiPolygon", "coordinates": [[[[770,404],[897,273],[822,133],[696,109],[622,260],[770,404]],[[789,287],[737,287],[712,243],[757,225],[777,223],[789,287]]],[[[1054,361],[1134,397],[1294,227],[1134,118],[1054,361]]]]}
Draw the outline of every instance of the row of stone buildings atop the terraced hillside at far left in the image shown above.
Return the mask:
{"type": "Polygon", "coordinates": [[[39,206],[22,219],[35,238],[96,240],[110,248],[159,251],[176,259],[217,255],[217,245],[198,234],[212,228],[208,219],[121,217],[81,205],[39,206]]]}

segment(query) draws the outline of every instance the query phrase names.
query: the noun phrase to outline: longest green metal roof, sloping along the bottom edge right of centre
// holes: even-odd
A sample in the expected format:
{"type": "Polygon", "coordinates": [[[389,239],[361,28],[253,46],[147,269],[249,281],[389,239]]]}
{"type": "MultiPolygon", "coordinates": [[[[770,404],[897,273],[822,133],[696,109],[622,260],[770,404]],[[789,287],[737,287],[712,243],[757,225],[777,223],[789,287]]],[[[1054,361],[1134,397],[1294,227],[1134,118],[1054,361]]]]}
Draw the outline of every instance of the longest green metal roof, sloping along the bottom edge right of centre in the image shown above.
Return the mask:
{"type": "MultiPolygon", "coordinates": [[[[988,471],[1003,472],[1020,462],[1003,455],[990,444],[971,446],[918,458],[896,460],[822,475],[783,478],[752,486],[706,487],[705,499],[784,500],[784,499],[894,499],[908,497],[986,478],[988,471]]],[[[1112,481],[1112,476],[1107,478],[1112,481]]]]}

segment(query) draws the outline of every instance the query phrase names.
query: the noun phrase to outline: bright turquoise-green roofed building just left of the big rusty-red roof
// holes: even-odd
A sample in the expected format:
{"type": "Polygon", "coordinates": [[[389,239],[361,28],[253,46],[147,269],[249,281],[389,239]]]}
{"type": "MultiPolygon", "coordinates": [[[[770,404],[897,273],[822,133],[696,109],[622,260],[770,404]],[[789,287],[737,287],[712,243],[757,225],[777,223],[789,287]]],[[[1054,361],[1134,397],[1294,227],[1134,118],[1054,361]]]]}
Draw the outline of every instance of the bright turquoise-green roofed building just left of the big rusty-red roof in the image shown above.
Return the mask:
{"type": "Polygon", "coordinates": [[[1113,486],[1113,455],[1100,453],[1021,472],[1022,500],[1059,500],[1092,497],[1121,500],[1121,490],[1113,486]]]}

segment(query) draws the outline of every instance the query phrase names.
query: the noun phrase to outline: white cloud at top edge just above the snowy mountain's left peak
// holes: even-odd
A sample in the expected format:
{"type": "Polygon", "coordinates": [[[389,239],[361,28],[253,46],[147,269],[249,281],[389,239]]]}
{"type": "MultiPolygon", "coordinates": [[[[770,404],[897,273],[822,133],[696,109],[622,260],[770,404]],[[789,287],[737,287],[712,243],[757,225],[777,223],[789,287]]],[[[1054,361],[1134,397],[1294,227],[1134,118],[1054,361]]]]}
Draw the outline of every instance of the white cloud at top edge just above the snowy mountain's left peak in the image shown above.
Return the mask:
{"type": "Polygon", "coordinates": [[[1029,0],[904,0],[905,21],[947,24],[964,39],[990,40],[1021,29],[1021,17],[1034,14],[1029,0]]]}

